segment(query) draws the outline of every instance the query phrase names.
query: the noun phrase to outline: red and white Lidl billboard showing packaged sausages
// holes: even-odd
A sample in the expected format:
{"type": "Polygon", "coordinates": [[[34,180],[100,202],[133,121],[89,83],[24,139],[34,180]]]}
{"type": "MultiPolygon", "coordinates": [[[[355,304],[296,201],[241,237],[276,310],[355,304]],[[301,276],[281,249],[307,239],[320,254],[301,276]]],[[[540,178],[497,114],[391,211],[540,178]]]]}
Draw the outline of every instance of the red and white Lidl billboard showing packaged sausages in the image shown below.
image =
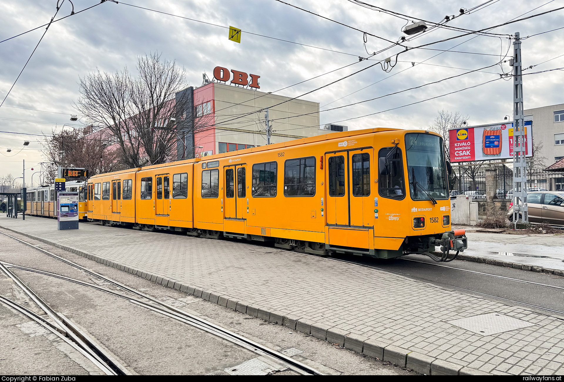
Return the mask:
{"type": "MultiPolygon", "coordinates": [[[[532,156],[532,121],[525,121],[525,156],[532,156]]],[[[513,123],[448,131],[451,162],[513,158],[513,123]]]]}

